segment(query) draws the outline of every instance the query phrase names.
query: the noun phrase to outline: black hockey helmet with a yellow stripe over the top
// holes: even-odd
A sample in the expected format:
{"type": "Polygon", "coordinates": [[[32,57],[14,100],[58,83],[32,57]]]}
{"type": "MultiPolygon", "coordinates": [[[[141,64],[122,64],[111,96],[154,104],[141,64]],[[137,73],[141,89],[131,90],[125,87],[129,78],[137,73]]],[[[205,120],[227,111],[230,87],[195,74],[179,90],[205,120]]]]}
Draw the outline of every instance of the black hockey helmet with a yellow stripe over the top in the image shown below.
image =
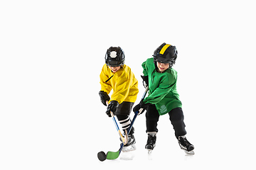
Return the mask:
{"type": "Polygon", "coordinates": [[[154,62],[169,63],[172,67],[178,55],[178,51],[174,45],[163,43],[154,51],[154,62]]]}

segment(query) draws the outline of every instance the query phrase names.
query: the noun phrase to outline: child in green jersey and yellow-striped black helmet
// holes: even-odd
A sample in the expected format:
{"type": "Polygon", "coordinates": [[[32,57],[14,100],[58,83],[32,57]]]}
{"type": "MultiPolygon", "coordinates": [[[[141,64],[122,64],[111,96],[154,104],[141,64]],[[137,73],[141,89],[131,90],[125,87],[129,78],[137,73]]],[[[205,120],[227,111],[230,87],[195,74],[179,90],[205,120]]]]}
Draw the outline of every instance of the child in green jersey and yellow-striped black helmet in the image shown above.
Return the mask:
{"type": "Polygon", "coordinates": [[[153,150],[156,145],[157,123],[159,116],[169,113],[171,124],[181,149],[187,154],[193,153],[193,145],[186,139],[182,103],[176,91],[177,72],[172,68],[176,62],[177,50],[173,45],[163,43],[154,51],[154,57],[143,62],[142,79],[149,86],[149,95],[134,107],[146,109],[146,149],[153,150]]]}

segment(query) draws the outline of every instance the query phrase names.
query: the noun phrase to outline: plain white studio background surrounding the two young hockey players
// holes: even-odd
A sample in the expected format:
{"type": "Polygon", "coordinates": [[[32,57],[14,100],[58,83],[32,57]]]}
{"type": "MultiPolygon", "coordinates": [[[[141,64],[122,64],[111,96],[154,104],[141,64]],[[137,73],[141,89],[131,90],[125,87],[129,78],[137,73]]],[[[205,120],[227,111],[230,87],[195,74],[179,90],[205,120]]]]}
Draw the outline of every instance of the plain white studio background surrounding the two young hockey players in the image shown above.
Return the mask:
{"type": "Polygon", "coordinates": [[[255,169],[254,6],[246,0],[1,1],[0,169],[255,169]],[[139,80],[139,101],[141,64],[163,42],[178,50],[177,88],[196,154],[179,149],[163,115],[148,156],[140,115],[137,151],[98,161],[97,152],[119,149],[98,96],[107,48],[124,50],[139,80]]]}

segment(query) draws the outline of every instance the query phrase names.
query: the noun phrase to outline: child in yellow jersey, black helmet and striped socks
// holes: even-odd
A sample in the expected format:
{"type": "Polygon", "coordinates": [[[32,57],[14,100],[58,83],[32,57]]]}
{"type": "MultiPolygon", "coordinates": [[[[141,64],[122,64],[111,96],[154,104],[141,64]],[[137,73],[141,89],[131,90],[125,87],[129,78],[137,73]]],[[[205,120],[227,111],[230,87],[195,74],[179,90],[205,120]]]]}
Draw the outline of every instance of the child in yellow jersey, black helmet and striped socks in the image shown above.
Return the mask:
{"type": "MultiPolygon", "coordinates": [[[[131,120],[129,114],[132,106],[137,99],[138,80],[134,77],[132,70],[124,64],[124,52],[120,47],[110,47],[105,55],[105,63],[100,73],[100,100],[102,104],[107,106],[107,115],[111,117],[110,111],[117,116],[122,130],[128,130],[131,120]],[[110,96],[110,91],[113,93],[110,96]]],[[[128,143],[124,145],[128,147],[133,145],[135,149],[134,128],[128,135],[128,143]]]]}

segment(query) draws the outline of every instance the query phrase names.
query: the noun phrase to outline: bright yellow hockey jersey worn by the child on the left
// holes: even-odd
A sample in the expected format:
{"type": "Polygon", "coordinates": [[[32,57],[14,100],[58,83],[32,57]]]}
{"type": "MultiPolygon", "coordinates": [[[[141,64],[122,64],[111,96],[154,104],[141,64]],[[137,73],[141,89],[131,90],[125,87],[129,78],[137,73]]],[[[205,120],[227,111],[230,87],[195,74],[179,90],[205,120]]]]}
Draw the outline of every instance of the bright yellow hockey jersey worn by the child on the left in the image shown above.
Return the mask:
{"type": "Polygon", "coordinates": [[[100,84],[100,90],[107,94],[113,90],[110,101],[117,101],[119,104],[123,101],[134,103],[139,93],[138,80],[134,77],[131,68],[125,64],[115,73],[104,64],[100,73],[100,84]]]}

